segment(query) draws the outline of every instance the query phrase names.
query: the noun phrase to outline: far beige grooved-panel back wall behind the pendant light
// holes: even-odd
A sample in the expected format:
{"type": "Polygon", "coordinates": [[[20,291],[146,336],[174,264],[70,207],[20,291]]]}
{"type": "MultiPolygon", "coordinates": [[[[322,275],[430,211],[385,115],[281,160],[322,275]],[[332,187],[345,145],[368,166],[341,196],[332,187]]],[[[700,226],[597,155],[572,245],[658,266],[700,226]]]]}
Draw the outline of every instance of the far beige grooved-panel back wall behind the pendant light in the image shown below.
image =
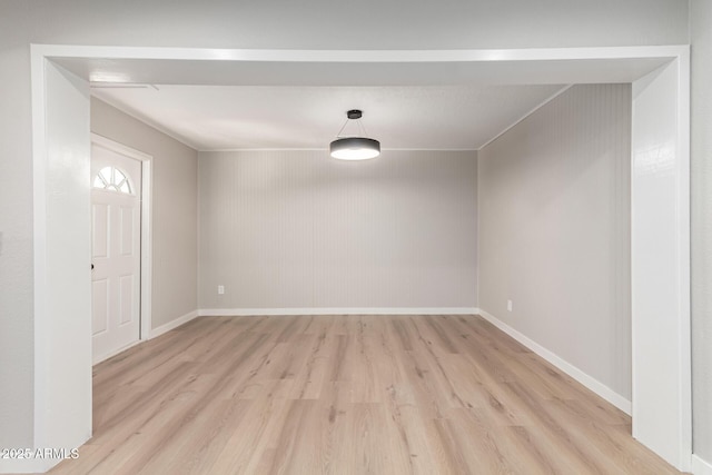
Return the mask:
{"type": "Polygon", "coordinates": [[[476,306],[476,152],[199,157],[200,308],[476,306]]]}

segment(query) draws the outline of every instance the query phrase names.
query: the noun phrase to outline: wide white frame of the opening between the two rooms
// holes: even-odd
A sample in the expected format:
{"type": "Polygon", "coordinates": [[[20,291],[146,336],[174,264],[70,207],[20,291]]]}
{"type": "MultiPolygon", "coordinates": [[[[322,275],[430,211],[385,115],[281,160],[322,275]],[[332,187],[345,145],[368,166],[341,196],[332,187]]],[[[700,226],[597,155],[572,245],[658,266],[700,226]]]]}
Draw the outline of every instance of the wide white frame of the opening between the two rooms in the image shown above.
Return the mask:
{"type": "MultiPolygon", "coordinates": [[[[72,145],[76,168],[87,172],[88,80],[92,65],[106,68],[111,62],[113,69],[125,70],[130,77],[136,72],[132,68],[145,67],[145,60],[155,61],[154,69],[144,75],[146,82],[154,83],[160,83],[161,77],[162,82],[175,83],[179,79],[167,75],[175,75],[179,66],[190,71],[186,78],[209,83],[208,78],[216,76],[225,81],[249,77],[244,75],[245,68],[264,75],[271,71],[265,68],[269,63],[295,73],[264,76],[266,83],[274,78],[304,80],[305,71],[314,69],[315,63],[334,65],[332,78],[343,76],[337,71],[343,72],[345,67],[357,68],[363,76],[368,71],[388,69],[383,65],[403,66],[405,76],[389,80],[409,83],[413,82],[414,65],[431,82],[452,76],[453,66],[459,77],[465,76],[465,80],[468,68],[472,68],[476,70],[472,77],[486,73],[490,78],[500,78],[500,81],[512,81],[511,78],[516,77],[520,83],[576,83],[591,82],[592,78],[605,82],[632,82],[633,435],[678,468],[689,468],[692,419],[688,47],[368,52],[33,46],[34,238],[40,244],[34,256],[36,441],[39,446],[79,445],[90,436],[91,427],[90,353],[86,349],[87,344],[81,343],[66,357],[56,358],[52,353],[53,348],[66,348],[89,334],[87,328],[90,328],[91,318],[86,305],[89,301],[86,295],[89,268],[76,264],[89,255],[89,239],[75,244],[71,253],[61,254],[60,246],[56,246],[66,235],[62,229],[70,231],[88,227],[89,208],[82,205],[88,200],[82,199],[88,197],[89,187],[76,190],[71,197],[76,200],[59,200],[52,195],[58,182],[73,185],[75,179],[67,170],[55,174],[55,149],[72,145]],[[107,62],[108,59],[111,61],[107,62]],[[218,70],[225,75],[216,75],[218,70]],[[76,115],[79,120],[63,123],[60,119],[65,116],[55,112],[60,109],[65,116],[76,115]],[[668,200],[668,207],[659,206],[661,197],[668,200]],[[67,222],[62,221],[63,217],[71,216],[73,218],[67,222]],[[660,269],[654,276],[646,271],[651,263],[660,269]],[[72,288],[85,296],[79,306],[61,295],[60,289],[67,289],[67,286],[53,286],[55,280],[61,278],[58,269],[66,266],[71,269],[77,266],[78,288],[72,288]],[[52,308],[52,318],[49,308],[52,308]],[[66,319],[77,318],[77,313],[79,321],[61,328],[66,319]],[[664,345],[651,346],[649,342],[664,342],[664,345]],[[651,360],[669,364],[660,367],[651,365],[651,360]],[[65,377],[48,378],[47,375],[65,377]],[[73,383],[67,384],[67,379],[73,383]],[[63,420],[57,416],[62,413],[76,417],[63,420]]],[[[389,70],[397,71],[398,68],[389,70]]],[[[324,68],[319,71],[323,83],[328,80],[328,75],[324,75],[324,68]]]]}

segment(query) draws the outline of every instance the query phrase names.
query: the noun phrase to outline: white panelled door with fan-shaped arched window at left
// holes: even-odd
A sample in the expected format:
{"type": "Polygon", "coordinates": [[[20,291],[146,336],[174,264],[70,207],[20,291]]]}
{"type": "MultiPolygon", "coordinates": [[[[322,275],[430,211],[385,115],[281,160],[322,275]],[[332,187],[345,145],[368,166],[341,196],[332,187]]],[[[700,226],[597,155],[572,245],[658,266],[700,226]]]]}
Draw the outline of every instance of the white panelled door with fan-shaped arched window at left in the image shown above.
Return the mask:
{"type": "Polygon", "coordinates": [[[92,357],[140,337],[141,164],[91,146],[92,357]]]}

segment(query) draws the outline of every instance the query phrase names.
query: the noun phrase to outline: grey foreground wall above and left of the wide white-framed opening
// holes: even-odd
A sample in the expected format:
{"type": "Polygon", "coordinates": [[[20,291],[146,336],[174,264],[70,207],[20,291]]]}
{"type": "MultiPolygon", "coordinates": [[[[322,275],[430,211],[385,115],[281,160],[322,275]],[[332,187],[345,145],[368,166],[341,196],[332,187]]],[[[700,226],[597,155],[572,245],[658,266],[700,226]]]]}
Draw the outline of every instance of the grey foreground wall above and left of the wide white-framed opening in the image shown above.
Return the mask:
{"type": "MultiPolygon", "coordinates": [[[[693,1],[696,8],[703,4],[703,0],[693,1]]],[[[345,7],[353,24],[360,23],[356,16],[365,17],[368,34],[343,27],[339,4],[314,0],[275,9],[269,2],[216,1],[208,8],[187,0],[171,2],[170,8],[159,0],[137,6],[108,0],[0,3],[0,446],[31,446],[33,437],[31,42],[316,49],[688,42],[684,0],[399,0],[387,6],[369,0],[359,4],[360,10],[345,7]],[[376,17],[374,8],[379,13],[376,17]]],[[[706,19],[699,21],[709,27],[706,19]]],[[[705,108],[698,113],[698,120],[708,121],[712,115],[705,108]]],[[[703,195],[693,198],[698,196],[703,195]]],[[[710,253],[698,249],[693,260],[709,263],[710,253]]],[[[705,420],[712,427],[712,417],[705,420]]]]}

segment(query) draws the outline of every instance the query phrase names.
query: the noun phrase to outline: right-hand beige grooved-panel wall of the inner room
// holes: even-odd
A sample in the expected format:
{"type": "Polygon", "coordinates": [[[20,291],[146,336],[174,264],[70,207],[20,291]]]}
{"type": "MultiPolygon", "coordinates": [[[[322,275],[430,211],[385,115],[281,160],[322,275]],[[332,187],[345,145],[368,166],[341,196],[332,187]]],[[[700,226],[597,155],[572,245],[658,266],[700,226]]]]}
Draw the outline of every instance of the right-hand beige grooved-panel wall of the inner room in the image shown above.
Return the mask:
{"type": "Polygon", "coordinates": [[[629,400],[630,154],[631,88],[603,85],[478,159],[479,307],[629,400]]]}

